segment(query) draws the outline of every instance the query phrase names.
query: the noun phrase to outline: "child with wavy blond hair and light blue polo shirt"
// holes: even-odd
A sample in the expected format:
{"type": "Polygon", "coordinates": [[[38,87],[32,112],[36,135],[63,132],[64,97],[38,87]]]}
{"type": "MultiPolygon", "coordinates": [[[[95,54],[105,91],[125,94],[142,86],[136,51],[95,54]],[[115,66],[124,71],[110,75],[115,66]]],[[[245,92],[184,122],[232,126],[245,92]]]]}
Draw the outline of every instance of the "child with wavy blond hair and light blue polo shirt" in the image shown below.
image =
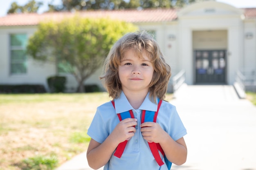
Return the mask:
{"type": "MultiPolygon", "coordinates": [[[[175,106],[162,101],[156,123],[141,123],[142,110],[157,111],[158,99],[164,99],[171,77],[157,42],[146,32],[128,33],[112,46],[104,66],[100,78],[114,102],[97,108],[88,129],[92,138],[87,151],[89,166],[104,166],[104,170],[167,170],[165,164],[159,166],[150,143],[159,143],[172,163],[185,163],[186,129],[175,106]],[[128,110],[132,110],[134,118],[120,121],[117,113],[128,110]],[[121,157],[114,156],[117,146],[126,140],[121,157]]],[[[164,162],[161,152],[159,155],[164,162]]]]}

